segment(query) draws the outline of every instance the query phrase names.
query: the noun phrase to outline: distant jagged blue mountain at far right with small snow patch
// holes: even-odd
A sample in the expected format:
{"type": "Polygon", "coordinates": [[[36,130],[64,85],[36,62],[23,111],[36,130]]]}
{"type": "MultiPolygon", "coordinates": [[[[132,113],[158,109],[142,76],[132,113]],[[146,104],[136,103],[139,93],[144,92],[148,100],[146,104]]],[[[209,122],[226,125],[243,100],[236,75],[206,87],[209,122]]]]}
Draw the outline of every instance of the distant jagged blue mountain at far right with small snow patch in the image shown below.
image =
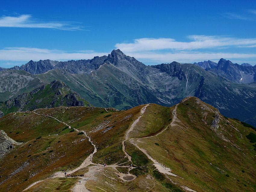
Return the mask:
{"type": "Polygon", "coordinates": [[[251,83],[256,81],[256,67],[251,66],[249,63],[239,65],[222,58],[218,63],[208,60],[194,64],[234,83],[251,83]]]}

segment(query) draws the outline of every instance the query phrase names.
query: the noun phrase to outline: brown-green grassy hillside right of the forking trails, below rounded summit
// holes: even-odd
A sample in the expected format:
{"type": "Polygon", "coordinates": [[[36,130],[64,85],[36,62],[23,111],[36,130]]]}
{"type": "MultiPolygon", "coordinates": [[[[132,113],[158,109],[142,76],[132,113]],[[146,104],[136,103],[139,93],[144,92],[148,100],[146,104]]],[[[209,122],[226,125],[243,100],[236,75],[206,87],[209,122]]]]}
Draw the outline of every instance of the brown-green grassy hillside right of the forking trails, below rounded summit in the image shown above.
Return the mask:
{"type": "MultiPolygon", "coordinates": [[[[154,106],[148,108],[148,113],[154,112],[154,106]]],[[[157,111],[159,107],[155,108],[157,111]]],[[[177,107],[175,126],[156,137],[142,138],[140,140],[144,143],[138,144],[158,162],[184,178],[172,177],[173,181],[191,189],[254,191],[256,153],[245,137],[253,130],[223,116],[220,116],[219,128],[212,130],[216,111],[216,108],[192,97],[177,107]]],[[[144,116],[141,120],[148,125],[152,118],[144,116]]],[[[143,126],[139,129],[142,130],[137,135],[143,135],[143,126]]]]}

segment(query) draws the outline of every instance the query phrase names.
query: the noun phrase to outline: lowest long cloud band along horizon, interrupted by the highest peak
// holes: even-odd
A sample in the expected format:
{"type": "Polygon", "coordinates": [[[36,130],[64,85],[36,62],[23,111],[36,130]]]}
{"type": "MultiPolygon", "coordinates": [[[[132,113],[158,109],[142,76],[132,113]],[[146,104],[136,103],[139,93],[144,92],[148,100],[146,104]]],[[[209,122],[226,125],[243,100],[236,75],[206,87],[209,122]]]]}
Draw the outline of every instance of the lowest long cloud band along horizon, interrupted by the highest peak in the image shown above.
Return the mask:
{"type": "MultiPolygon", "coordinates": [[[[256,54],[239,54],[239,53],[204,53],[204,52],[192,52],[192,51],[179,51],[175,53],[161,53],[153,51],[144,52],[127,52],[124,51],[126,55],[135,57],[138,60],[155,62],[155,63],[171,63],[172,61],[177,61],[180,63],[193,63],[195,61],[203,60],[214,60],[217,61],[220,58],[225,58],[229,60],[255,60],[256,54]]],[[[65,52],[61,50],[49,50],[49,49],[39,49],[39,48],[25,48],[25,47],[15,47],[15,48],[5,48],[0,50],[0,58],[2,61],[17,62],[24,61],[24,64],[29,60],[79,60],[79,59],[92,59],[95,56],[108,55],[104,52],[93,52],[90,50],[86,51],[76,51],[76,52],[65,52]],[[14,57],[15,55],[15,57],[14,57]]],[[[251,63],[252,64],[252,63],[251,63]]]]}

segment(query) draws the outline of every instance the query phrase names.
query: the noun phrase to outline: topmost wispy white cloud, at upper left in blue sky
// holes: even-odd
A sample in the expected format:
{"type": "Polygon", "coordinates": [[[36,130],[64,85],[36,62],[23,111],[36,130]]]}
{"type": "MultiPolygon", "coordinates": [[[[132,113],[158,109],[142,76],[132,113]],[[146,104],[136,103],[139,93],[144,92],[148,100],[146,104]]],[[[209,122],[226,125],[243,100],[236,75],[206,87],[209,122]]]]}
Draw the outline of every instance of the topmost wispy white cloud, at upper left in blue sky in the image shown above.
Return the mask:
{"type": "Polygon", "coordinates": [[[17,17],[2,16],[0,17],[0,27],[22,27],[22,28],[49,28],[60,30],[83,30],[80,26],[76,26],[75,22],[40,22],[34,20],[31,15],[23,14],[17,17]]]}

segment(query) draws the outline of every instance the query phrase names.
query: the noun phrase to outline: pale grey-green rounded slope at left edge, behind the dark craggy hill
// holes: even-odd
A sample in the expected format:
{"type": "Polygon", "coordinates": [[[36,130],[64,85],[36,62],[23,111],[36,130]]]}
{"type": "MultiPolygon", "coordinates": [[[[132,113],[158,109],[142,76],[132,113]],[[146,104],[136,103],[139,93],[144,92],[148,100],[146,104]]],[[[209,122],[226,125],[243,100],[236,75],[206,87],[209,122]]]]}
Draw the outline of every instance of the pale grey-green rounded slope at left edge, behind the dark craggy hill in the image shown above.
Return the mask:
{"type": "Polygon", "coordinates": [[[0,101],[7,101],[45,84],[41,79],[23,70],[0,71],[0,101]]]}

